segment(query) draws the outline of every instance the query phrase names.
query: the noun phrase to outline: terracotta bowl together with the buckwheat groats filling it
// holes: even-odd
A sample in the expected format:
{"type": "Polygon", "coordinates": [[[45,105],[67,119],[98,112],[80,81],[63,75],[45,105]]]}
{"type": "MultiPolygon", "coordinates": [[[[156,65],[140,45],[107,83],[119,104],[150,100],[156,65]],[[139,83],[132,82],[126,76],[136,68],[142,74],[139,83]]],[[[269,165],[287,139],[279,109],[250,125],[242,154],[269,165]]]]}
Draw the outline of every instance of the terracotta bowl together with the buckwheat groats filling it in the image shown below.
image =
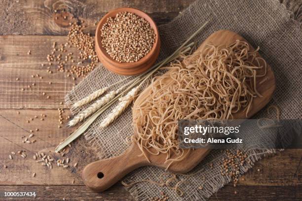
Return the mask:
{"type": "Polygon", "coordinates": [[[156,61],[160,39],[149,15],[135,8],[107,13],[96,29],[96,52],[103,65],[118,74],[135,75],[156,61]]]}

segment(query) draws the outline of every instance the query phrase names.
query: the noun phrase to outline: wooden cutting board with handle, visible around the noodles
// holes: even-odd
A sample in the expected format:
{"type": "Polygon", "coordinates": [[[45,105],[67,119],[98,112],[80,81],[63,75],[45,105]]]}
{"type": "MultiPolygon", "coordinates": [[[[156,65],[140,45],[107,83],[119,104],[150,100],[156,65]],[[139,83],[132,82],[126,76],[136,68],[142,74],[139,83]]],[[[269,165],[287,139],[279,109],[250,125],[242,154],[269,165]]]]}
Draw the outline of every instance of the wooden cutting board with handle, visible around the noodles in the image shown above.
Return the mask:
{"type": "MultiPolygon", "coordinates": [[[[221,30],[211,34],[198,48],[199,50],[203,50],[207,44],[213,44],[215,46],[221,44],[231,44],[235,42],[235,40],[243,40],[246,41],[242,36],[237,33],[221,30]]],[[[246,41],[247,42],[247,41],[246,41]]],[[[250,44],[249,44],[250,45],[250,44]]],[[[254,51],[254,48],[250,45],[251,50],[254,51]]],[[[169,72],[167,72],[169,73],[169,72]]],[[[261,74],[263,72],[259,71],[257,74],[261,74]]],[[[150,87],[146,88],[141,95],[137,98],[134,103],[133,108],[136,108],[141,102],[146,100],[145,98],[151,93],[150,87]]],[[[271,67],[267,65],[267,73],[265,77],[258,78],[257,90],[260,94],[263,95],[262,98],[253,99],[251,110],[246,117],[245,112],[239,111],[233,115],[236,119],[246,119],[253,116],[256,112],[262,109],[268,101],[271,99],[272,94],[275,90],[275,78],[274,74],[271,70],[271,67]],[[263,82],[262,80],[265,79],[263,82]]],[[[133,111],[133,126],[136,125],[136,119],[138,117],[139,111],[133,111]]],[[[134,131],[136,129],[134,128],[134,131]]],[[[136,134],[134,132],[134,134],[136,134]]],[[[180,161],[174,162],[169,167],[169,171],[174,173],[186,173],[189,172],[192,168],[194,168],[197,164],[199,164],[202,159],[209,153],[209,149],[195,149],[195,150],[185,150],[188,153],[187,157],[180,161]]],[[[132,144],[127,151],[125,151],[120,156],[100,160],[93,162],[87,165],[82,172],[82,178],[87,187],[90,189],[101,192],[109,187],[111,187],[114,183],[120,180],[129,172],[133,171],[136,168],[143,166],[156,166],[160,168],[166,168],[169,164],[165,164],[166,155],[159,154],[157,156],[148,155],[151,163],[149,163],[144,156],[141,155],[141,150],[136,144],[132,144]]],[[[186,154],[185,153],[185,154],[186,154]]]]}

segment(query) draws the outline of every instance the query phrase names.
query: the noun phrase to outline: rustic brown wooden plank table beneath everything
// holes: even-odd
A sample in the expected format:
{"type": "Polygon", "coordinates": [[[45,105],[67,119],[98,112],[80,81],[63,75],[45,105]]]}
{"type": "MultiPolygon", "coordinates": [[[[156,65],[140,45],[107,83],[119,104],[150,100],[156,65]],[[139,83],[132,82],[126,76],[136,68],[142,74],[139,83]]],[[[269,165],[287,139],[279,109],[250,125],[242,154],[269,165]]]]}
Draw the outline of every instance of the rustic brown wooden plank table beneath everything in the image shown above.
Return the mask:
{"type": "MultiPolygon", "coordinates": [[[[110,190],[96,194],[88,190],[78,176],[81,168],[96,158],[88,144],[73,143],[67,157],[79,166],[70,170],[45,168],[36,163],[36,152],[54,155],[54,148],[69,134],[71,129],[58,128],[57,108],[63,108],[64,117],[69,109],[60,102],[72,89],[73,80],[65,73],[49,74],[41,64],[47,64],[46,55],[52,43],[66,42],[68,23],[60,13],[63,9],[75,18],[85,20],[87,32],[94,33],[95,25],[108,10],[122,6],[140,8],[155,19],[158,25],[171,21],[194,0],[2,0],[0,4],[0,193],[37,192],[36,199],[52,200],[133,200],[120,183],[110,190]],[[58,10],[54,13],[54,10],[58,10]],[[58,17],[56,20],[55,17],[58,17]],[[28,51],[31,50],[31,54],[28,51]],[[43,78],[32,78],[39,74],[43,78]],[[19,78],[19,80],[16,80],[19,78]],[[51,82],[51,84],[49,84],[51,82]],[[35,86],[28,88],[28,85],[35,86]],[[22,91],[22,88],[24,90],[22,91]],[[43,96],[43,92],[46,93],[43,96]],[[46,99],[49,96],[49,99],[46,99]],[[44,121],[40,115],[45,114],[44,121]],[[37,119],[34,116],[38,116],[37,119]],[[34,120],[29,120],[34,118],[34,120]],[[27,123],[27,120],[30,123],[27,123]],[[36,132],[36,128],[39,129],[36,132]],[[23,136],[34,131],[32,144],[23,143],[23,136]],[[26,158],[9,154],[25,151],[26,158]],[[85,150],[85,152],[83,151],[85,150]],[[4,167],[6,166],[6,168],[4,167]],[[33,172],[37,175],[32,177],[33,172]],[[75,183],[73,184],[73,180],[75,183]]],[[[292,10],[297,20],[302,20],[301,0],[281,0],[292,10]]],[[[76,52],[76,50],[75,50],[76,52]]],[[[66,122],[67,120],[64,120],[66,122]]],[[[81,140],[83,142],[83,140],[81,140]]],[[[266,158],[249,170],[236,187],[227,185],[210,200],[302,200],[302,150],[285,150],[266,158]],[[259,171],[258,171],[259,169],[259,171]],[[238,193],[235,195],[234,191],[238,193]]],[[[7,200],[1,197],[0,200],[7,200]]],[[[22,200],[22,199],[15,199],[22,200]]],[[[23,200],[29,200],[23,199],[23,200]]]]}

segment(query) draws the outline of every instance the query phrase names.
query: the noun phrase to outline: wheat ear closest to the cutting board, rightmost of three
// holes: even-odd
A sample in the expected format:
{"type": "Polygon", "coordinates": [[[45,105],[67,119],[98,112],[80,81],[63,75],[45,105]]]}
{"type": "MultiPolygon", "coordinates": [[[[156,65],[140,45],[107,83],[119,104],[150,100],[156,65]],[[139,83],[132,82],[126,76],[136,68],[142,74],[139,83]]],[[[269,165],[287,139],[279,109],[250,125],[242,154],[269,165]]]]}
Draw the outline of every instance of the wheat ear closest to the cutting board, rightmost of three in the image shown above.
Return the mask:
{"type": "Polygon", "coordinates": [[[140,87],[134,87],[128,94],[119,99],[119,103],[110,112],[110,114],[102,121],[100,128],[105,128],[109,126],[132,102],[134,97],[137,95],[140,87]]]}

